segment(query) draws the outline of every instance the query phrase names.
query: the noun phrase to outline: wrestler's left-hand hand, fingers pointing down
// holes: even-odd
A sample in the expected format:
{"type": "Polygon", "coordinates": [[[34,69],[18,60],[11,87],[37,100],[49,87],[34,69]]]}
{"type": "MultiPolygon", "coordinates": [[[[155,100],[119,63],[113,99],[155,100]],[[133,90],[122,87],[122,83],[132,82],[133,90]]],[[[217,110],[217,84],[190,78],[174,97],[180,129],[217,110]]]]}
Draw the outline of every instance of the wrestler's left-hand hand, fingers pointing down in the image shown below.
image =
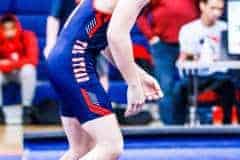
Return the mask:
{"type": "Polygon", "coordinates": [[[145,102],[144,91],[141,85],[128,85],[127,91],[127,110],[125,116],[138,114],[145,102]]]}

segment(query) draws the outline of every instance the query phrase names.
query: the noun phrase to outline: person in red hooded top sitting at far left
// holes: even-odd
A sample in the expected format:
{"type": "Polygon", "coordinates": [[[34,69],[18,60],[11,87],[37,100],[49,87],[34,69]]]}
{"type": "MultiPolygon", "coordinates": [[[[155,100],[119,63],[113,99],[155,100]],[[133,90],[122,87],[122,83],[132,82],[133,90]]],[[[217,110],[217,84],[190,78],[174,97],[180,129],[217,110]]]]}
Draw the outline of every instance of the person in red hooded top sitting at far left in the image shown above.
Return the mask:
{"type": "Polygon", "coordinates": [[[35,34],[24,30],[13,14],[0,17],[0,121],[2,123],[4,123],[2,86],[10,81],[21,84],[23,122],[30,123],[37,63],[38,43],[35,34]]]}

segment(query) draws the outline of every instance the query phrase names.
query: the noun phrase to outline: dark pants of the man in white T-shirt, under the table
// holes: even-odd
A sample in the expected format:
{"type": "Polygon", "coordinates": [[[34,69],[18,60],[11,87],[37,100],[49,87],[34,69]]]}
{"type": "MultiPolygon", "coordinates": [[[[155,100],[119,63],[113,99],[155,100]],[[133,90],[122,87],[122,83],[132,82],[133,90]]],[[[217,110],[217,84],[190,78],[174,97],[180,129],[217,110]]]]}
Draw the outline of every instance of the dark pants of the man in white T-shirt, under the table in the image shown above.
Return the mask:
{"type": "MultiPolygon", "coordinates": [[[[181,80],[174,90],[174,123],[184,124],[188,114],[187,106],[189,105],[189,79],[181,80]]],[[[217,105],[223,107],[224,111],[224,124],[231,123],[232,106],[236,103],[235,100],[235,87],[231,78],[223,74],[215,74],[208,77],[198,78],[198,91],[201,93],[205,90],[215,91],[219,99],[217,105]]]]}

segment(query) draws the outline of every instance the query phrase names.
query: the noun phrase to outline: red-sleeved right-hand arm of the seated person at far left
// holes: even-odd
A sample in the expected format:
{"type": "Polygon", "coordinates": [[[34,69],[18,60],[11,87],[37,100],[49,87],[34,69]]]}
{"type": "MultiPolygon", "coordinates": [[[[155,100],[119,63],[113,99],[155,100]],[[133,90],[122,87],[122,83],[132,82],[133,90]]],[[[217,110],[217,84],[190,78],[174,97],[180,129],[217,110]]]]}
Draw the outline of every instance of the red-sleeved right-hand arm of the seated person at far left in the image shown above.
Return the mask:
{"type": "Polygon", "coordinates": [[[24,53],[17,60],[16,68],[20,69],[23,65],[31,64],[36,66],[38,64],[39,46],[36,35],[31,31],[24,31],[24,53]]]}

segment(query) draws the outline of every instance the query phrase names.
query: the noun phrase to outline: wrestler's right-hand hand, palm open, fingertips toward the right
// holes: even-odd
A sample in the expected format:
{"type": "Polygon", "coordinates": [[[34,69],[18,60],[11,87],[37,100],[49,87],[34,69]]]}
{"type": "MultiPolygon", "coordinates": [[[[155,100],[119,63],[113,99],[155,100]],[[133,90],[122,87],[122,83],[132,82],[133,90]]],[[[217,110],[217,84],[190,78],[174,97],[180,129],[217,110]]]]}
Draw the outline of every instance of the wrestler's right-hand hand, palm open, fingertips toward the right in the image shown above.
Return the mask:
{"type": "Polygon", "coordinates": [[[163,97],[164,94],[158,82],[149,74],[146,73],[141,76],[141,83],[143,86],[146,100],[153,101],[163,97]]]}

